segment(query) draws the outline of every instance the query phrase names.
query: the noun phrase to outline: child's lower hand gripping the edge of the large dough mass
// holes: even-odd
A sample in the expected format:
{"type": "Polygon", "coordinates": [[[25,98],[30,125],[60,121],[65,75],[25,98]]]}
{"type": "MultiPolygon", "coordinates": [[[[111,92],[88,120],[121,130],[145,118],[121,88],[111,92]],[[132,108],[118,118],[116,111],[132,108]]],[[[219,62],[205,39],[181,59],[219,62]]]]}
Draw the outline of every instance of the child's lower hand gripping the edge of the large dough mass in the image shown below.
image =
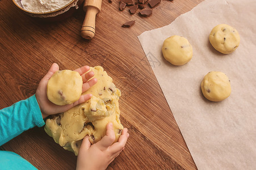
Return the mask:
{"type": "Polygon", "coordinates": [[[112,123],[108,123],[106,136],[99,142],[91,145],[89,136],[83,138],[77,157],[77,170],[106,169],[116,156],[124,150],[125,143],[129,137],[127,131],[127,128],[124,128],[119,141],[113,143],[115,141],[115,133],[112,123]]]}

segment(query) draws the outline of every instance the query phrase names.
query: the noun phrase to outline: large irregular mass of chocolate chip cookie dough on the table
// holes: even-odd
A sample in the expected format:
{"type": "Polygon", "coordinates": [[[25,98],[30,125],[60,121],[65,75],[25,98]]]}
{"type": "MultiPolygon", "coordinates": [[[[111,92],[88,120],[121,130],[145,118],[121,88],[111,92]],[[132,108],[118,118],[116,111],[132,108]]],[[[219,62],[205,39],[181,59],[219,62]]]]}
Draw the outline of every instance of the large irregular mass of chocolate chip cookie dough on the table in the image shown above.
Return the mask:
{"type": "Polygon", "coordinates": [[[118,141],[123,125],[119,117],[119,97],[121,92],[112,83],[101,66],[91,67],[98,82],[83,94],[92,94],[90,100],[79,104],[64,113],[48,118],[45,131],[54,141],[66,150],[78,155],[83,137],[90,136],[90,142],[96,143],[106,135],[106,126],[112,122],[118,141]]]}

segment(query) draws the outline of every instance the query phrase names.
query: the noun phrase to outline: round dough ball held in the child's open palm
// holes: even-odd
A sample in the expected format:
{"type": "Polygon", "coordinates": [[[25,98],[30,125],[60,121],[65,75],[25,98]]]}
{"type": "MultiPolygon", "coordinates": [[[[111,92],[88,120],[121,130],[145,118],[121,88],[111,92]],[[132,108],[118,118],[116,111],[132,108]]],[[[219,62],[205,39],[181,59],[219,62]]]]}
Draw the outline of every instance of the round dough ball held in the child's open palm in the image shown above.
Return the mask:
{"type": "Polygon", "coordinates": [[[57,105],[72,104],[82,94],[83,79],[77,71],[56,71],[47,83],[47,97],[57,105]]]}

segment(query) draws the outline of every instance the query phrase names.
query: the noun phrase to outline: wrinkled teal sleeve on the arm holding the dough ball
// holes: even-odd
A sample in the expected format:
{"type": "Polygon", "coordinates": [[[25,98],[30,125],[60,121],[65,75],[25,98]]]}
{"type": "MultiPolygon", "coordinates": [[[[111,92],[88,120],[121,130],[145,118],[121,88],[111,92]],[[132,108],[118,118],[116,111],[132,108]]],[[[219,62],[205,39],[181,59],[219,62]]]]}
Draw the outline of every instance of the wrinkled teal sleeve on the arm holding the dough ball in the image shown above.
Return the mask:
{"type": "Polygon", "coordinates": [[[36,96],[21,100],[0,110],[0,146],[35,126],[43,126],[43,120],[36,96]]]}

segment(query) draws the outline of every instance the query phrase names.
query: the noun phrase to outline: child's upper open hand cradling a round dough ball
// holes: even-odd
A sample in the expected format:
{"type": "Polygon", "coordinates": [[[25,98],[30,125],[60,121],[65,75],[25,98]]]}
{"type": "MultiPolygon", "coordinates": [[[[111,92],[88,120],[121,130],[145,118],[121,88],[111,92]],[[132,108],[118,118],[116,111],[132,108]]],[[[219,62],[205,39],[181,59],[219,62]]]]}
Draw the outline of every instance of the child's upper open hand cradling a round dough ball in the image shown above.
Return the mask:
{"type": "MultiPolygon", "coordinates": [[[[74,71],[77,71],[80,75],[83,74],[82,75],[82,78],[83,78],[82,92],[85,92],[97,82],[96,78],[89,80],[94,76],[93,71],[86,73],[89,70],[90,70],[89,66],[83,66],[77,70],[74,70],[74,71]]],[[[43,79],[41,79],[36,90],[36,100],[41,109],[43,118],[49,116],[50,114],[57,114],[57,113],[68,111],[68,109],[74,107],[75,105],[81,104],[91,98],[91,94],[82,95],[80,99],[78,101],[75,101],[73,104],[62,105],[62,106],[53,104],[51,101],[49,101],[47,98],[47,92],[46,92],[47,83],[56,71],[58,71],[58,65],[57,63],[53,63],[48,73],[43,77],[43,79]]]]}

